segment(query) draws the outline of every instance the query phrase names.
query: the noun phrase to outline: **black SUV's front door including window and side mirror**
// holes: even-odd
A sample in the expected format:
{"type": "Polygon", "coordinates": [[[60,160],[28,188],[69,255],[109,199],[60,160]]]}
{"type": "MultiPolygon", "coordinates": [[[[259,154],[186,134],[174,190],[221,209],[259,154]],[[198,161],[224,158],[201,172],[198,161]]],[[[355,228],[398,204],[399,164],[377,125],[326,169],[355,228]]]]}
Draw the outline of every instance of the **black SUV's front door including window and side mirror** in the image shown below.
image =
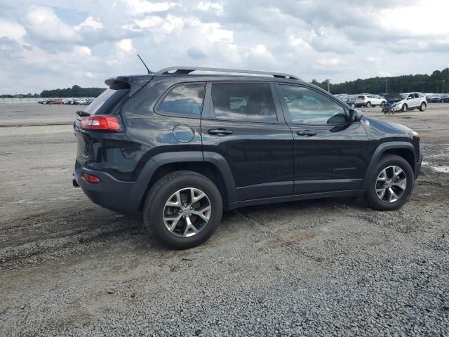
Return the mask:
{"type": "Polygon", "coordinates": [[[370,159],[361,122],[337,99],[307,86],[278,85],[294,137],[295,194],[360,187],[370,159]]]}

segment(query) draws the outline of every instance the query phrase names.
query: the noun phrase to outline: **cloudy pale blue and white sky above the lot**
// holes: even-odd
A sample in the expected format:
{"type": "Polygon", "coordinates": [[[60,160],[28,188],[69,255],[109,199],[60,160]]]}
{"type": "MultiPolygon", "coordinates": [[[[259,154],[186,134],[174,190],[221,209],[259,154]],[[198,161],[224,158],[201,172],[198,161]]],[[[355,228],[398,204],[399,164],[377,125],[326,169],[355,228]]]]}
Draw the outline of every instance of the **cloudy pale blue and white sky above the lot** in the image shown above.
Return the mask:
{"type": "Polygon", "coordinates": [[[449,67],[446,0],[0,0],[0,93],[202,66],[311,81],[449,67]]]}

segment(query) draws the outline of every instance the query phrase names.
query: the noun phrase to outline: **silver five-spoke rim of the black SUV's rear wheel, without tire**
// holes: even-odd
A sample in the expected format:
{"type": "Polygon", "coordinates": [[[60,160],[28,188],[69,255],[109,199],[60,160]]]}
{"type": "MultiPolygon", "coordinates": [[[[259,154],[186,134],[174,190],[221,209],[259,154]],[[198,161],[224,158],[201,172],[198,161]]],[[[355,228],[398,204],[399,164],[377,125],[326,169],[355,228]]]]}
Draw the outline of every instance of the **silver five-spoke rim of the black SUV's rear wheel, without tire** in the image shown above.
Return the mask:
{"type": "Polygon", "coordinates": [[[194,187],[173,193],[163,207],[163,223],[176,237],[192,237],[209,222],[212,206],[206,193],[194,187]]]}

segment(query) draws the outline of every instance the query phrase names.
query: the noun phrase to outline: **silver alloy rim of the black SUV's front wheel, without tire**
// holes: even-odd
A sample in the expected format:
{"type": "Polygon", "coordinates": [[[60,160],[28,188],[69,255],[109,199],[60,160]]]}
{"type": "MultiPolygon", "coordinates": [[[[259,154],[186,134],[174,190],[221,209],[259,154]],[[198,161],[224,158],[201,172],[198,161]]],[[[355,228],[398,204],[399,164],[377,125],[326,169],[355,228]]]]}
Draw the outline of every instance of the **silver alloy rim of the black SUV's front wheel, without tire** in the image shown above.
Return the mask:
{"type": "Polygon", "coordinates": [[[377,197],[384,202],[401,199],[406,192],[406,173],[399,166],[388,166],[380,171],[375,182],[377,197]]]}

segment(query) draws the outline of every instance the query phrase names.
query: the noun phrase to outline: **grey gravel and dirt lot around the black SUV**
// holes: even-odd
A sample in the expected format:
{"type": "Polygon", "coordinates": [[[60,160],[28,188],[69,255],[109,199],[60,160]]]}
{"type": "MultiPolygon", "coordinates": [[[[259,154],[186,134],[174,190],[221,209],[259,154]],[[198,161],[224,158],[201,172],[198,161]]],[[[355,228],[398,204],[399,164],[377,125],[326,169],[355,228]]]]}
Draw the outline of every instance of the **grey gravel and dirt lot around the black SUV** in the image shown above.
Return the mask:
{"type": "Polygon", "coordinates": [[[403,209],[248,207],[189,251],[72,187],[74,110],[0,105],[0,336],[449,336],[449,104],[363,110],[421,134],[403,209]]]}

